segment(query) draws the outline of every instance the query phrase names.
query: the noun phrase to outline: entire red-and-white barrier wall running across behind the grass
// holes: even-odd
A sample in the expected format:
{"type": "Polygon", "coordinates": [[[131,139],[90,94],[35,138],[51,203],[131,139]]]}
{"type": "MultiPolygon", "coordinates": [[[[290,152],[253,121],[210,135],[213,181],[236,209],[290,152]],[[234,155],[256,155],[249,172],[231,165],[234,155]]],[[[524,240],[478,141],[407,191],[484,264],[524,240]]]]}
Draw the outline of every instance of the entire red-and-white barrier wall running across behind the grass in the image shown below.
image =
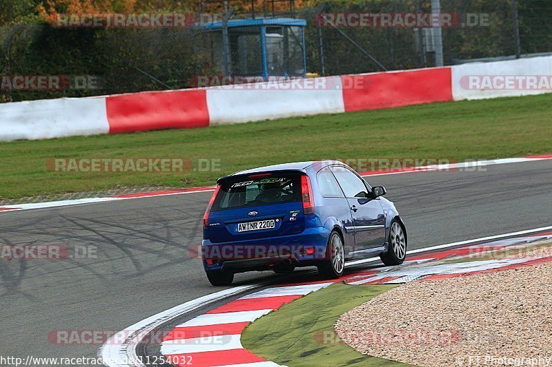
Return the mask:
{"type": "Polygon", "coordinates": [[[552,92],[552,56],[195,90],[0,103],[0,141],[206,127],[548,92],[552,92]],[[362,83],[351,86],[349,82],[362,83]]]}

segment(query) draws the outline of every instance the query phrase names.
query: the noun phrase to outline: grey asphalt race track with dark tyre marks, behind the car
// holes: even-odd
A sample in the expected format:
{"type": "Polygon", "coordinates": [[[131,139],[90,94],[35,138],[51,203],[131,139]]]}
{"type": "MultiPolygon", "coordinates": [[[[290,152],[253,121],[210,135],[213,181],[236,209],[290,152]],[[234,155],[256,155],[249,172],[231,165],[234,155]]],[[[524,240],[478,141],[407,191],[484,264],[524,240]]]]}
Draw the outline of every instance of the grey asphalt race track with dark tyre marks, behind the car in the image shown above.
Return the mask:
{"type": "MultiPolygon", "coordinates": [[[[402,213],[408,249],[552,224],[552,160],[479,171],[375,176],[402,213]]],[[[95,357],[99,344],[57,345],[52,331],[117,332],[221,290],[195,245],[211,193],[0,213],[0,244],[62,244],[95,258],[0,260],[0,355],[95,357]]],[[[236,276],[235,284],[274,277],[236,276]]]]}

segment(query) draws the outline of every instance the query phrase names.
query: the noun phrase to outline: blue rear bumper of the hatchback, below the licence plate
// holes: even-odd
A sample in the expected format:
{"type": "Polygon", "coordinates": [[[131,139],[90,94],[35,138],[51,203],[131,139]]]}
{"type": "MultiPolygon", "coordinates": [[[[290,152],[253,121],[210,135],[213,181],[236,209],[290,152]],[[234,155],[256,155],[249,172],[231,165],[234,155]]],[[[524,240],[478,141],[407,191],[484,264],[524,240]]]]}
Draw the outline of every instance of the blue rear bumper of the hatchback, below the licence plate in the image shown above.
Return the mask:
{"type": "Polygon", "coordinates": [[[309,266],[326,258],[330,231],[324,227],[307,228],[295,235],[239,242],[201,243],[201,258],[206,271],[270,270],[293,264],[309,266]],[[210,263],[209,263],[210,262],[210,263]]]}

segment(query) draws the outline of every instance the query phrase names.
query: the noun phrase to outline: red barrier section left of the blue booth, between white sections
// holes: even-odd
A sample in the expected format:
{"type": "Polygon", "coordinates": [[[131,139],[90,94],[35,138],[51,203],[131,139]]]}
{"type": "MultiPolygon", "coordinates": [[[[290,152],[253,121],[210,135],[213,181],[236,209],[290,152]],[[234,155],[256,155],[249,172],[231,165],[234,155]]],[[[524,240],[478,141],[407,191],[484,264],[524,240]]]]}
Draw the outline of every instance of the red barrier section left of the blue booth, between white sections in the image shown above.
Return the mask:
{"type": "Polygon", "coordinates": [[[110,134],[209,125],[205,90],[108,96],[106,109],[110,134]]]}

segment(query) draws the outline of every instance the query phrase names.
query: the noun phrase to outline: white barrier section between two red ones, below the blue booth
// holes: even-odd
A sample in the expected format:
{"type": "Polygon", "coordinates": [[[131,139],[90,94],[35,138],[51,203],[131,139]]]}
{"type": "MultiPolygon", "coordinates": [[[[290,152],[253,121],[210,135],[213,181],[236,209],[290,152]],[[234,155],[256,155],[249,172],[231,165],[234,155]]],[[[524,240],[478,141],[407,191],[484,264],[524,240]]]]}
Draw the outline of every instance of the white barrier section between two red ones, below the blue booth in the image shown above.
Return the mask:
{"type": "Polygon", "coordinates": [[[211,125],[345,112],[341,78],[208,88],[211,125]]]}

